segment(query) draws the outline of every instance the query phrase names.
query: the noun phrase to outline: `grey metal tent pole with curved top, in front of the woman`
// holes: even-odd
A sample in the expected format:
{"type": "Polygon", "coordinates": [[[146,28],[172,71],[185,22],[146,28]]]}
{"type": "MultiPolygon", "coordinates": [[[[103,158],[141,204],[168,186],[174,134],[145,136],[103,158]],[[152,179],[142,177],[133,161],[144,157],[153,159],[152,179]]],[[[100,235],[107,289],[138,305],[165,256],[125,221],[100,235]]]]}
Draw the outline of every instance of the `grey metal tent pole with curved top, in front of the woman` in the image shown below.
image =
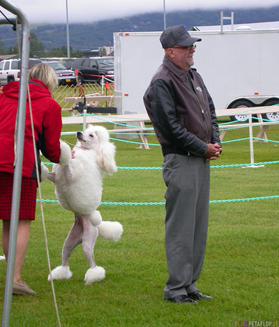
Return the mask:
{"type": "Polygon", "coordinates": [[[22,45],[21,45],[21,68],[20,68],[20,91],[17,105],[17,126],[16,126],[16,155],[15,172],[13,176],[13,199],[10,213],[10,235],[8,245],[8,261],[6,269],[6,284],[3,303],[2,327],[10,325],[10,307],[13,297],[13,270],[15,266],[15,246],[17,241],[18,213],[20,208],[20,191],[22,183],[22,158],[24,145],[25,109],[27,102],[27,73],[30,48],[30,29],[27,17],[20,8],[6,0],[0,0],[0,6],[17,16],[22,24],[22,45]]]}

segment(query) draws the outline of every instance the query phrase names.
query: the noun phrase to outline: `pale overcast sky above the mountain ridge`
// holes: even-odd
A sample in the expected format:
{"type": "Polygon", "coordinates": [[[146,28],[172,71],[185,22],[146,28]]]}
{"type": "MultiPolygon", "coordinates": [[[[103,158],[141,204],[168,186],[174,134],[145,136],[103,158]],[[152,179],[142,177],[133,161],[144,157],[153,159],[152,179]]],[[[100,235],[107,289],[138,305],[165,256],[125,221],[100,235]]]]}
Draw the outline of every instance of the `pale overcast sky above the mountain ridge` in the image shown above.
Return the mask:
{"type": "MultiPolygon", "coordinates": [[[[163,12],[164,0],[7,0],[19,7],[30,23],[96,22],[139,13],[163,12]]],[[[173,10],[268,8],[278,0],[165,0],[166,13],[173,10]]],[[[2,8],[0,8],[2,9],[2,8]]],[[[4,10],[3,10],[4,11],[4,10]]]]}

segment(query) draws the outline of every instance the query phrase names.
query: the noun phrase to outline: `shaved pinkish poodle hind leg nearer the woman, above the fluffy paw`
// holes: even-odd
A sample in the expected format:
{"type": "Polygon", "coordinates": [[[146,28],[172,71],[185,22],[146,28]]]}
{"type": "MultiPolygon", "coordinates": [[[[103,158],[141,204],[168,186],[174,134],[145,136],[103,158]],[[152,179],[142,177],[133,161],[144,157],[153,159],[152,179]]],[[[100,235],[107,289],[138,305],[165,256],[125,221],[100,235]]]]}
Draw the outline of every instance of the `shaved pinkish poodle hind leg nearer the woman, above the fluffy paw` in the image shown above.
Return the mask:
{"type": "Polygon", "coordinates": [[[62,266],[68,266],[70,254],[74,248],[82,243],[82,221],[80,217],[75,213],[75,222],[69,231],[69,234],[63,244],[62,249],[62,266]]]}

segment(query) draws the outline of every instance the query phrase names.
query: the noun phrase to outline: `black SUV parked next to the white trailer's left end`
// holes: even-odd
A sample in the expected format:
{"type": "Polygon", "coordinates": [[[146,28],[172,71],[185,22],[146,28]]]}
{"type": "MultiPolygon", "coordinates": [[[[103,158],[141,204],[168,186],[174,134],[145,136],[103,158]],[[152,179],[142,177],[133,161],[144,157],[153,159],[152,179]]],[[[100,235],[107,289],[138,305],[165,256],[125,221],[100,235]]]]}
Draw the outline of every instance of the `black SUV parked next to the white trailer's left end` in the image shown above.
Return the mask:
{"type": "Polygon", "coordinates": [[[78,82],[114,81],[114,59],[112,56],[94,56],[92,58],[77,58],[72,69],[78,70],[78,82]],[[104,77],[104,78],[103,78],[104,77]]]}

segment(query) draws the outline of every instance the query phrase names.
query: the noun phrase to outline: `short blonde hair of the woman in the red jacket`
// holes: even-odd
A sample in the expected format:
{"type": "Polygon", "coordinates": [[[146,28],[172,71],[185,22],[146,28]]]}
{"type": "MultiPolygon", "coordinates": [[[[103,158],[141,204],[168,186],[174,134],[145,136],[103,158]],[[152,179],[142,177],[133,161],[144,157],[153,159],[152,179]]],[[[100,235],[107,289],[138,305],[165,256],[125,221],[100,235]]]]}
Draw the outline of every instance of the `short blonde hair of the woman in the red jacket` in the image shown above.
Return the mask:
{"type": "Polygon", "coordinates": [[[45,86],[47,86],[48,91],[52,91],[58,85],[58,80],[56,74],[52,67],[46,65],[45,63],[37,63],[31,70],[29,70],[29,79],[35,78],[39,79],[45,86]]]}

